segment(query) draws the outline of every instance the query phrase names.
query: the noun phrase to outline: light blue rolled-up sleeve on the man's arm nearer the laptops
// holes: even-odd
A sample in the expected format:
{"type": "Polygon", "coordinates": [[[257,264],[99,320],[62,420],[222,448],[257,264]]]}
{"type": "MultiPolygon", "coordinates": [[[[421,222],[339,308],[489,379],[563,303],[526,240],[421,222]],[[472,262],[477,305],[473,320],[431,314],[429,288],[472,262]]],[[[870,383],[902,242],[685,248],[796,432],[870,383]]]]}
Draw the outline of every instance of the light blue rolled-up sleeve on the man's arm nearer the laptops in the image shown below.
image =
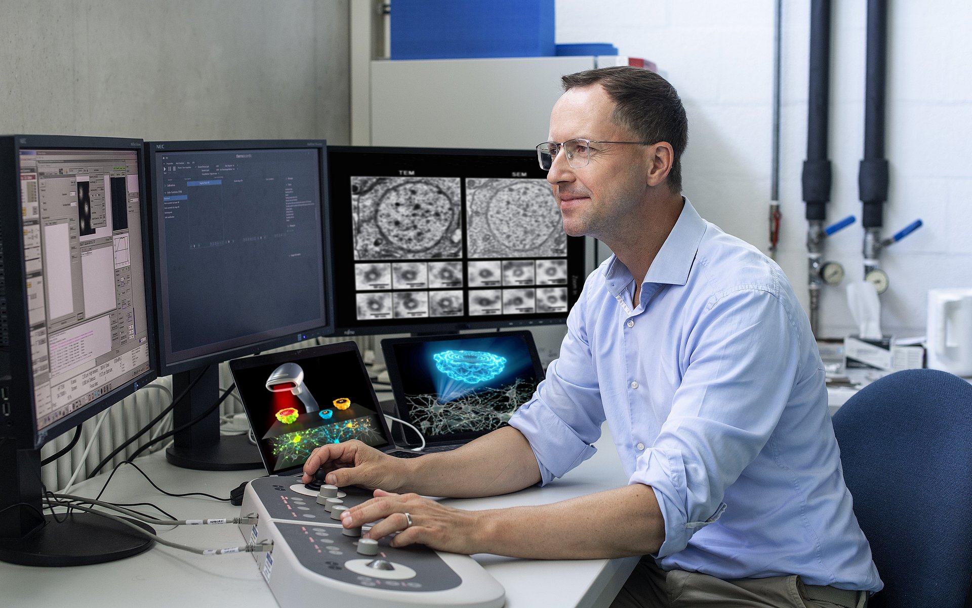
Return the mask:
{"type": "Polygon", "coordinates": [[[593,444],[605,421],[583,319],[585,294],[586,287],[568,316],[560,357],[547,367],[533,398],[509,421],[530,442],[543,485],[594,456],[593,444]]]}

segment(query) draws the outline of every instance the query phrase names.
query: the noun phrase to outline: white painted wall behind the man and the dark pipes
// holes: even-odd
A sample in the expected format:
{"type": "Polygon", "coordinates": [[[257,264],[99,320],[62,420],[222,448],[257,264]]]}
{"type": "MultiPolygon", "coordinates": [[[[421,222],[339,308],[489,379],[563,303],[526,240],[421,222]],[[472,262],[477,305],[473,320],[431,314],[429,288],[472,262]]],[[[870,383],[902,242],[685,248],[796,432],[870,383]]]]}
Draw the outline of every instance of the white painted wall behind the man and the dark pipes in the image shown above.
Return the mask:
{"type": "MultiPolygon", "coordinates": [[[[610,42],[655,61],[689,118],[684,188],[699,212],[767,251],[770,198],[772,0],[557,0],[557,42],[610,42]]],[[[809,0],[784,0],[781,210],[777,259],[807,306],[806,158],[809,0]]],[[[972,287],[972,3],[888,2],[885,236],[924,226],[885,250],[883,329],[924,332],[925,293],[972,287]]],[[[833,2],[830,157],[833,222],[858,222],[826,243],[848,280],[863,273],[857,166],[863,154],[865,0],[833,2]]],[[[853,328],[844,287],[825,287],[820,335],[853,328]]]]}

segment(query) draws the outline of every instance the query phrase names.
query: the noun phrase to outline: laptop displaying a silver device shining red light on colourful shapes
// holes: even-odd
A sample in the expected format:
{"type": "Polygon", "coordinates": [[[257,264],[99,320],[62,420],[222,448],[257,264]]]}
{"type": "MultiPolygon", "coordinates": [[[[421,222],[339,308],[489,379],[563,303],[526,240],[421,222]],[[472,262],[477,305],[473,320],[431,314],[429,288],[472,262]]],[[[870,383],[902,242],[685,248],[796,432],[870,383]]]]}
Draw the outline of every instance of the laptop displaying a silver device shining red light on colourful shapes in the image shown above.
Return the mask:
{"type": "Polygon", "coordinates": [[[399,457],[358,345],[340,342],[229,361],[266,472],[291,475],[328,443],[358,439],[399,457]]]}

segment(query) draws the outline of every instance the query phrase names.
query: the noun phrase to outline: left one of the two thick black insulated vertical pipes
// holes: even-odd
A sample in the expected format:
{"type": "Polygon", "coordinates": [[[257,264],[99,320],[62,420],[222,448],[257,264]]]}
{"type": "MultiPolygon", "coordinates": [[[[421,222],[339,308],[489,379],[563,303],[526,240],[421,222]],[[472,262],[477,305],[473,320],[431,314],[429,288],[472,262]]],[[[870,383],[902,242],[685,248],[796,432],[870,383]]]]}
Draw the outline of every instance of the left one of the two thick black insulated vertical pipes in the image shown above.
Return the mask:
{"type": "Polygon", "coordinates": [[[830,200],[827,129],[830,112],[830,0],[810,4],[810,89],[807,103],[807,160],[803,163],[803,200],[807,220],[825,220],[830,200]]]}

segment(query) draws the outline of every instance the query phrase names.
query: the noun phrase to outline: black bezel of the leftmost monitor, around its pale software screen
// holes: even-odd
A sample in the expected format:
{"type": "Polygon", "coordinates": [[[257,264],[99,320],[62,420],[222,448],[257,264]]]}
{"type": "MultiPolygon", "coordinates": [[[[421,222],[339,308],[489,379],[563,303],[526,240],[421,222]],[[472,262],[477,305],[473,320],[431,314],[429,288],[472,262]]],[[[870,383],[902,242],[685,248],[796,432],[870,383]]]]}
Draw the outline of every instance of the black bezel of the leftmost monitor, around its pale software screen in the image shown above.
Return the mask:
{"type": "Polygon", "coordinates": [[[7,322],[10,350],[9,379],[0,379],[6,385],[9,400],[4,400],[5,422],[0,422],[0,437],[13,438],[17,447],[40,449],[54,437],[86,422],[93,416],[115,405],[138,388],[157,378],[155,299],[153,296],[153,266],[150,256],[148,232],[148,206],[146,205],[146,162],[143,141],[137,138],[87,137],[74,135],[6,135],[0,136],[0,199],[14,204],[0,205],[0,226],[3,239],[3,274],[6,283],[7,322]],[[142,264],[145,273],[145,305],[149,345],[149,369],[123,386],[87,403],[64,418],[52,422],[43,429],[37,427],[37,404],[34,402],[33,364],[30,360],[30,329],[27,321],[26,268],[23,260],[23,223],[20,217],[20,151],[21,150],[104,150],[136,152],[140,206],[143,214],[142,264]],[[8,173],[12,171],[12,173],[8,173]],[[15,260],[17,263],[15,263],[15,260]],[[17,352],[25,358],[15,357],[17,352]],[[18,379],[24,379],[23,382],[18,379]],[[29,403],[30,407],[19,406],[29,403]],[[29,418],[26,416],[29,415],[29,418]]]}

